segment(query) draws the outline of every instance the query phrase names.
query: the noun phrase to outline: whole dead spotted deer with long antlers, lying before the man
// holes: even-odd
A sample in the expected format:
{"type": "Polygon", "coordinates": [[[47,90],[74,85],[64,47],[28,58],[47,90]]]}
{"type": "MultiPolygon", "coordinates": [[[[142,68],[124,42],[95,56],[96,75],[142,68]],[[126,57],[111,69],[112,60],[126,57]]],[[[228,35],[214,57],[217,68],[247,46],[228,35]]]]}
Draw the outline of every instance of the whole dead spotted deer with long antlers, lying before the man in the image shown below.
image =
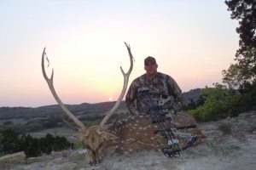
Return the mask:
{"type": "MultiPolygon", "coordinates": [[[[157,126],[152,124],[151,116],[129,116],[125,119],[114,122],[113,124],[105,125],[108,119],[113,116],[114,111],[119,107],[121,100],[125,95],[129,76],[133,67],[133,57],[131,54],[130,45],[125,43],[130,57],[130,69],[125,73],[120,67],[121,72],[124,76],[124,84],[119,99],[115,105],[108,112],[108,114],[102,119],[99,126],[92,126],[86,128],[79,119],[67,110],[67,107],[62,103],[61,99],[55,92],[53,85],[54,71],[52,70],[51,77],[47,77],[44,70],[44,56],[46,54],[45,48],[42,54],[42,71],[44,79],[48,83],[51,94],[53,94],[57,103],[61,106],[61,109],[69,116],[73,122],[79,126],[79,136],[84,140],[84,146],[87,149],[86,158],[91,165],[96,165],[102,161],[103,153],[106,151],[113,151],[116,148],[124,150],[125,152],[131,152],[139,149],[159,149],[161,146],[166,145],[166,139],[158,134],[154,133],[157,130],[157,126]]],[[[173,122],[176,127],[194,126],[195,120],[191,116],[184,114],[177,114],[173,116],[173,122]]],[[[203,137],[201,130],[198,128],[183,129],[184,132],[196,134],[199,137],[203,137]]],[[[195,144],[199,144],[201,139],[198,138],[195,144]]],[[[179,140],[181,146],[185,145],[186,142],[183,139],[179,140]]]]}

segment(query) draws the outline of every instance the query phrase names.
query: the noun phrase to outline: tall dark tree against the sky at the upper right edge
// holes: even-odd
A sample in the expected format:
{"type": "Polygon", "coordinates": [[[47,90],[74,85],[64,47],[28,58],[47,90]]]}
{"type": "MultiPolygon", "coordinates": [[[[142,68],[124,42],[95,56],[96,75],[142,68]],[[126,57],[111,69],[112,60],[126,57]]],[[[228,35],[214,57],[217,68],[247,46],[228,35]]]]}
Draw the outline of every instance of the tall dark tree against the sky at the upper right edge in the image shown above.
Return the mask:
{"type": "Polygon", "coordinates": [[[238,20],[239,48],[236,50],[236,64],[223,71],[223,82],[230,88],[237,88],[244,82],[253,82],[256,77],[256,1],[226,0],[230,18],[238,20]]]}

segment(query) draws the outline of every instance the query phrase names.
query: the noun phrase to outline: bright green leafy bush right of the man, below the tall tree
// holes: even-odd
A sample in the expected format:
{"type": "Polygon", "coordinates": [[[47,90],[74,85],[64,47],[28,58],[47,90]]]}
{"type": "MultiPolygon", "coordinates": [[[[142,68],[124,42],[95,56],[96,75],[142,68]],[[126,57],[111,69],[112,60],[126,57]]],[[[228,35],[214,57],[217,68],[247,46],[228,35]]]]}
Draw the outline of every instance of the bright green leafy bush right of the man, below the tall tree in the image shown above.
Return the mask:
{"type": "Polygon", "coordinates": [[[227,116],[236,116],[245,111],[244,96],[224,85],[215,84],[215,88],[204,88],[201,92],[204,104],[195,110],[187,111],[200,122],[216,121],[227,116]]]}

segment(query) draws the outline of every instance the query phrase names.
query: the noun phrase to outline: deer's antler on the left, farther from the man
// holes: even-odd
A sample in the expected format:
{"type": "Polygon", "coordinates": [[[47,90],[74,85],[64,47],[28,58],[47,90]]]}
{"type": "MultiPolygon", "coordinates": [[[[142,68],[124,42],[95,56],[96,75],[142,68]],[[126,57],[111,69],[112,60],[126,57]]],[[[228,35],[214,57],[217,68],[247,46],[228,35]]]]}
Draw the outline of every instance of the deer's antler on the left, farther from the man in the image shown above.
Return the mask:
{"type": "Polygon", "coordinates": [[[44,55],[45,55],[45,48],[42,54],[42,71],[43,71],[43,75],[44,75],[44,79],[46,80],[48,86],[49,86],[49,90],[51,92],[51,94],[54,96],[55,100],[58,102],[58,104],[61,106],[62,111],[64,111],[67,116],[69,116],[73,122],[75,122],[77,125],[79,125],[79,127],[81,128],[81,130],[85,130],[86,127],[84,126],[83,122],[80,122],[79,119],[73,115],[73,113],[71,113],[70,111],[67,110],[67,107],[62,103],[61,99],[59,98],[59,96],[56,94],[55,92],[55,88],[53,85],[53,76],[54,76],[54,70],[52,69],[52,73],[51,73],[51,77],[48,78],[46,73],[45,73],[45,69],[44,69],[44,55]]]}

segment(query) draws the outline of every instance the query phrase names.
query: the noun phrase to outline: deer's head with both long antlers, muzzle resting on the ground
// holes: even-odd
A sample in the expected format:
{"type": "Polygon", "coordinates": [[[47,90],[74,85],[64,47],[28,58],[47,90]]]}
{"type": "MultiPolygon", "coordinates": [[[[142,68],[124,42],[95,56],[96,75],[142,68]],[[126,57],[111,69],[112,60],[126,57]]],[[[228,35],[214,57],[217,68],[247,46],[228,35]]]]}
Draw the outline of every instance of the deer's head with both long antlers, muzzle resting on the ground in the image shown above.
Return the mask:
{"type": "Polygon", "coordinates": [[[61,99],[56,94],[54,84],[53,84],[54,70],[52,70],[51,77],[49,78],[49,77],[47,77],[47,75],[45,73],[45,69],[44,69],[44,56],[46,55],[45,48],[44,48],[44,51],[42,54],[42,71],[43,71],[44,79],[48,83],[49,90],[50,90],[51,94],[54,96],[57,103],[60,105],[62,111],[64,111],[67,114],[67,116],[69,116],[73,120],[73,122],[75,122],[79,126],[79,137],[81,137],[84,140],[84,146],[87,149],[86,157],[91,165],[95,164],[95,163],[99,163],[99,161],[102,160],[102,157],[103,157],[102,144],[103,144],[104,140],[118,139],[112,133],[108,133],[107,132],[108,128],[104,125],[108,121],[108,119],[113,115],[113,112],[119,107],[119,104],[125,95],[125,91],[126,91],[127,84],[129,81],[129,76],[132,71],[133,57],[131,54],[131,47],[130,47],[130,45],[127,45],[126,43],[125,43],[125,46],[128,50],[128,54],[130,56],[131,65],[130,65],[130,69],[127,73],[125,73],[125,71],[123,71],[122,67],[120,67],[120,70],[124,76],[124,85],[123,85],[121,94],[119,95],[119,99],[117,100],[115,105],[113,105],[113,108],[111,109],[111,111],[109,111],[108,114],[103,118],[103,120],[99,126],[93,126],[93,127],[89,127],[89,128],[86,128],[84,126],[83,122],[80,122],[79,119],[73,115],[73,113],[71,113],[70,111],[67,110],[67,107],[62,103],[61,99]]]}

